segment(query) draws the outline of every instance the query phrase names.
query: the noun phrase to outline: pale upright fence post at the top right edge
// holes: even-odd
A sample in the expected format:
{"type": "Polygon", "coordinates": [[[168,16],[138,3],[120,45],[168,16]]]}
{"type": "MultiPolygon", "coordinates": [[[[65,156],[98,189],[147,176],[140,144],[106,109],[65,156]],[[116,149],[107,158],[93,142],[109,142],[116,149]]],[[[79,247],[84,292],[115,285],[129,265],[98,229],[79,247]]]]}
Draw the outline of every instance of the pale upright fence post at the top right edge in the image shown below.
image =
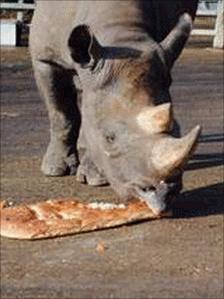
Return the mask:
{"type": "Polygon", "coordinates": [[[217,5],[217,18],[215,23],[215,37],[213,40],[214,48],[224,48],[224,3],[223,0],[217,5]]]}

